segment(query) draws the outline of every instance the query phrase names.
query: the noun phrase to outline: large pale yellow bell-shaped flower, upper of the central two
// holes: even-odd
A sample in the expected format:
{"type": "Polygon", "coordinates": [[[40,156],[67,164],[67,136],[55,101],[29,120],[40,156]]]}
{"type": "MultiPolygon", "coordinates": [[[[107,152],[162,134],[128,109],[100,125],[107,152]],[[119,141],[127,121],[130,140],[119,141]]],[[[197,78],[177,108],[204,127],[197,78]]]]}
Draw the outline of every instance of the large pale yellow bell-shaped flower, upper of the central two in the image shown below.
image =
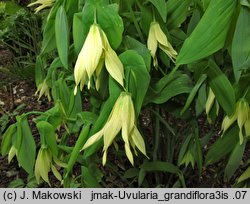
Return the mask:
{"type": "Polygon", "coordinates": [[[88,88],[90,88],[92,76],[94,76],[96,89],[98,90],[100,87],[99,75],[104,64],[109,74],[123,86],[123,65],[115,51],[111,48],[104,31],[98,24],[94,23],[90,27],[75,64],[76,87],[74,93],[76,94],[79,84],[82,90],[86,81],[88,81],[88,88]]]}

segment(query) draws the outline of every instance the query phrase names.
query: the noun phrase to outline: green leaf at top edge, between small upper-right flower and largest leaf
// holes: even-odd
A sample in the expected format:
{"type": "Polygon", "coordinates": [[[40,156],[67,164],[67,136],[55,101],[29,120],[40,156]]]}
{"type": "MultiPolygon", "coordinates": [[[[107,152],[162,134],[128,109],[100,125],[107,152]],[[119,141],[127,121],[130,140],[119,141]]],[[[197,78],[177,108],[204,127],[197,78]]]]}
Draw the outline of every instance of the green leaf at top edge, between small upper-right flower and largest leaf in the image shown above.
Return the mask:
{"type": "Polygon", "coordinates": [[[167,28],[172,30],[182,24],[187,18],[191,0],[167,1],[167,28]]]}

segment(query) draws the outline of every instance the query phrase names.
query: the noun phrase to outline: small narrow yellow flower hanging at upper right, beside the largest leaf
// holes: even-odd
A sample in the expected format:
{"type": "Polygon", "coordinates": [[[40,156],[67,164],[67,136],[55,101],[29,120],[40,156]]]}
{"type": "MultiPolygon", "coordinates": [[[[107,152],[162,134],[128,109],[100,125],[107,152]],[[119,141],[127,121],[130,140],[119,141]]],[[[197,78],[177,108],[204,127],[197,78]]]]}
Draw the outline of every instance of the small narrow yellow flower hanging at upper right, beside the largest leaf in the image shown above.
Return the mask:
{"type": "Polygon", "coordinates": [[[169,58],[173,62],[175,62],[177,52],[174,50],[174,48],[168,41],[167,36],[162,31],[159,23],[156,21],[153,21],[150,25],[147,46],[150,50],[151,56],[154,59],[155,67],[158,66],[156,58],[157,47],[159,47],[163,52],[165,52],[169,56],[169,58]]]}

